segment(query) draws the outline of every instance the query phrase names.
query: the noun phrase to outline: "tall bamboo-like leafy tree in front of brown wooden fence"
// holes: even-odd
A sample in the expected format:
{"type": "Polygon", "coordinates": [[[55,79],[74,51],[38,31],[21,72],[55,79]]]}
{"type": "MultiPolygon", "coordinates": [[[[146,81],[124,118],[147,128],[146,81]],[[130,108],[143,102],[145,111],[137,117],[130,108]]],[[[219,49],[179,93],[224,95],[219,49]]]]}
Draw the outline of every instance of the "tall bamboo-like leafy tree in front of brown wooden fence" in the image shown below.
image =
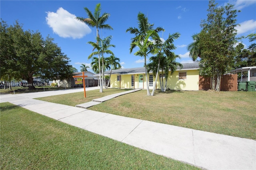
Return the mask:
{"type": "MultiPolygon", "coordinates": [[[[212,78],[212,89],[220,91],[221,76],[234,66],[236,38],[236,10],[234,5],[218,7],[209,1],[207,20],[202,20],[198,34],[200,73],[212,78]]],[[[196,55],[194,55],[196,56],[196,55]]]]}

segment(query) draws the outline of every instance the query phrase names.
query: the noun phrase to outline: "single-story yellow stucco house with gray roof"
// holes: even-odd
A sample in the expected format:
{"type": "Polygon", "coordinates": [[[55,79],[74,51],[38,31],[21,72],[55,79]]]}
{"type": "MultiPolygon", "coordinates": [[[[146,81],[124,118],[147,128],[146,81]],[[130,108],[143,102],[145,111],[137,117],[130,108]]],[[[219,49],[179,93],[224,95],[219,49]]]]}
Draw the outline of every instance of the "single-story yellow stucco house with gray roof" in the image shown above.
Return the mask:
{"type": "MultiPolygon", "coordinates": [[[[199,90],[198,63],[186,63],[182,65],[183,67],[178,67],[172,76],[169,74],[167,80],[167,88],[170,90],[199,90]]],[[[104,75],[109,76],[110,71],[106,71],[104,75]]],[[[150,89],[153,88],[155,81],[157,81],[156,89],[160,89],[159,78],[156,80],[152,72],[149,72],[149,74],[146,75],[144,67],[112,70],[110,88],[146,89],[146,76],[148,76],[150,89]]],[[[165,74],[163,74],[163,76],[165,78],[165,74]]]]}

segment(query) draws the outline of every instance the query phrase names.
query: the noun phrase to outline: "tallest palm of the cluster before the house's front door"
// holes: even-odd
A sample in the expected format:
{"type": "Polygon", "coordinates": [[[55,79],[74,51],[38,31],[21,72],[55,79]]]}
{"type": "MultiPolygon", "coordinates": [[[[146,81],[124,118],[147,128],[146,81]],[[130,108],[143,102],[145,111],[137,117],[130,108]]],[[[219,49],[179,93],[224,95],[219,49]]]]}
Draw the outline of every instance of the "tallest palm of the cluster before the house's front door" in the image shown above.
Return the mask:
{"type": "MultiPolygon", "coordinates": [[[[149,53],[155,53],[154,43],[149,41],[150,38],[154,37],[158,32],[164,31],[163,28],[157,27],[153,29],[154,24],[148,22],[148,18],[141,12],[138,14],[138,28],[129,27],[126,32],[134,34],[135,37],[132,38],[132,43],[130,45],[130,53],[132,53],[135,47],[139,47],[140,50],[134,55],[144,57],[145,74],[147,74],[146,67],[146,57],[149,53]]],[[[146,86],[147,95],[150,96],[149,86],[148,86],[148,76],[146,76],[146,86]]]]}

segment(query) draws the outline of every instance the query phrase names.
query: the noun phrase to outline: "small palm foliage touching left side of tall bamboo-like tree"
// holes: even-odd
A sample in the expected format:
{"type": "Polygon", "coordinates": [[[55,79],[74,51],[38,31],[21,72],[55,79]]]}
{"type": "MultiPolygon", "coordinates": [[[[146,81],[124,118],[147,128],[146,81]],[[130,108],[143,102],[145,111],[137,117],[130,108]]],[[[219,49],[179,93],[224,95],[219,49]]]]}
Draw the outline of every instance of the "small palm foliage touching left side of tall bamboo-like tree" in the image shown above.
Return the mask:
{"type": "Polygon", "coordinates": [[[194,42],[188,45],[188,51],[190,51],[189,57],[191,57],[193,61],[196,61],[196,59],[201,55],[201,49],[199,46],[199,34],[192,35],[192,39],[194,42]]]}

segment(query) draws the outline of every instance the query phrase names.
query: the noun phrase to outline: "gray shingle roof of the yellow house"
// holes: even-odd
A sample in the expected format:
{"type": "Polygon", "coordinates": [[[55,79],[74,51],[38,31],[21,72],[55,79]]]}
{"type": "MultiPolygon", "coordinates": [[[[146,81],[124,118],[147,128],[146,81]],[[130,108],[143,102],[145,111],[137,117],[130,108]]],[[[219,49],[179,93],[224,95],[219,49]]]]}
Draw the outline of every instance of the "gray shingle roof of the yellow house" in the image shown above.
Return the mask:
{"type": "MultiPolygon", "coordinates": [[[[181,70],[189,70],[189,69],[196,69],[199,68],[198,63],[184,63],[182,64],[183,67],[181,70]]],[[[180,70],[180,67],[178,67],[177,70],[180,70]]],[[[137,73],[144,73],[145,68],[144,67],[138,67],[138,68],[123,68],[123,69],[118,69],[118,70],[112,70],[112,74],[137,74],[137,73]]],[[[110,70],[105,71],[104,74],[110,74],[110,70]]]]}

